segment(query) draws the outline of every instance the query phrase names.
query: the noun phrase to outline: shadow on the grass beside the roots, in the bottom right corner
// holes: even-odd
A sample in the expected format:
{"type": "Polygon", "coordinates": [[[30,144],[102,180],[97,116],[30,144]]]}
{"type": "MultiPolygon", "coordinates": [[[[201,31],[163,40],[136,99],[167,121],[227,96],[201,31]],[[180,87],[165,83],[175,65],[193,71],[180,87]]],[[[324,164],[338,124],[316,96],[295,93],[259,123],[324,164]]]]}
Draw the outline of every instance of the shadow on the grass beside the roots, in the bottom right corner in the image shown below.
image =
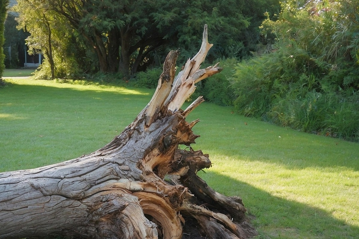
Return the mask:
{"type": "Polygon", "coordinates": [[[273,196],[233,178],[207,171],[201,177],[221,193],[230,188],[240,196],[259,235],[257,239],[357,239],[359,227],[332,217],[328,212],[273,196]],[[220,182],[220,183],[219,183],[220,182]]]}

